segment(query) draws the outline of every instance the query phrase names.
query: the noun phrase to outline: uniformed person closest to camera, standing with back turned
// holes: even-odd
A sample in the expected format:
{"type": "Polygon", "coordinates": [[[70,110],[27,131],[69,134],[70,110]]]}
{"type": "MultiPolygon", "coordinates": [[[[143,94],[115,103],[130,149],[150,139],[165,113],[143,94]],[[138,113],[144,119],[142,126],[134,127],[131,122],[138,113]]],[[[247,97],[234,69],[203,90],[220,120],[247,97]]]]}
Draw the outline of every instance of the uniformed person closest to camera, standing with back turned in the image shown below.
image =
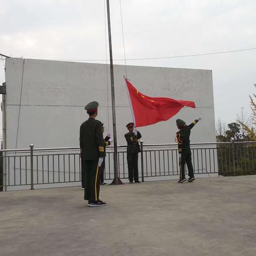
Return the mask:
{"type": "Polygon", "coordinates": [[[99,167],[103,162],[104,145],[102,124],[96,120],[98,115],[97,101],[92,101],[85,106],[89,119],[80,126],[80,149],[82,159],[82,173],[84,183],[84,199],[88,200],[87,206],[106,205],[99,199],[99,167]]]}

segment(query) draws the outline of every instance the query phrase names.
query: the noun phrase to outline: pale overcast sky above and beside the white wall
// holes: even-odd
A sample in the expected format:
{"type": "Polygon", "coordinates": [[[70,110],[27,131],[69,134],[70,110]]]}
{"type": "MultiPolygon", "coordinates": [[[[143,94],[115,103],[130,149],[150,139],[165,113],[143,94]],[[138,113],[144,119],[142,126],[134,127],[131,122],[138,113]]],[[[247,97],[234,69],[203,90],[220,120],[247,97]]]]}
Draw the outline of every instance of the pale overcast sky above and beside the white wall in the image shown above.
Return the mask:
{"type": "MultiPolygon", "coordinates": [[[[0,3],[0,53],[35,59],[106,59],[105,0],[0,0],[0,3]]],[[[121,5],[127,59],[256,47],[255,0],[121,0],[121,5]]],[[[119,0],[110,0],[110,14],[113,58],[124,59],[119,0]]],[[[256,50],[252,50],[126,63],[211,69],[215,120],[221,118],[230,123],[235,121],[241,107],[247,115],[251,114],[249,94],[256,90],[255,60],[256,50]]],[[[2,83],[4,61],[0,63],[2,83]]],[[[124,61],[114,63],[124,64],[124,61]]]]}

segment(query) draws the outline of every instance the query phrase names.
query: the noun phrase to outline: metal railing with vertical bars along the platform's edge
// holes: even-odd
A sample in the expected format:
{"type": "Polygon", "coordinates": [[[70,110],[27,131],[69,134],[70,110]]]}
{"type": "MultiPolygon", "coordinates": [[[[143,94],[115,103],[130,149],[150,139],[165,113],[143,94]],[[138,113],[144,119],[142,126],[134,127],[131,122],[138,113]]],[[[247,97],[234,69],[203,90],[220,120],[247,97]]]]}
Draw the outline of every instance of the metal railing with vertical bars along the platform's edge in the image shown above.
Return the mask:
{"type": "MultiPolygon", "coordinates": [[[[256,142],[191,143],[195,174],[256,174],[256,142]]],[[[179,175],[177,144],[143,145],[138,161],[139,177],[179,175]]],[[[81,182],[79,147],[6,149],[3,153],[3,185],[34,189],[55,183],[81,182]]],[[[105,180],[114,179],[113,147],[107,147],[105,180]]],[[[186,170],[187,173],[187,170],[186,170]]],[[[118,146],[118,176],[128,178],[126,146],[118,146]]],[[[19,189],[19,188],[17,188],[19,189]]]]}

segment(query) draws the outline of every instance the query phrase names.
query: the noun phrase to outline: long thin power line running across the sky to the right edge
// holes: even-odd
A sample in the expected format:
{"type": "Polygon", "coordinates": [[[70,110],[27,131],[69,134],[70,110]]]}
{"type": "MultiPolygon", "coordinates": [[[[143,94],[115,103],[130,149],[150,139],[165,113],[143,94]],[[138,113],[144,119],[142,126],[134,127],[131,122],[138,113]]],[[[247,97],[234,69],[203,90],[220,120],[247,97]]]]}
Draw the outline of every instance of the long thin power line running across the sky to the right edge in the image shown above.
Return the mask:
{"type": "MultiPolygon", "coordinates": [[[[168,56],[168,57],[115,59],[115,61],[124,61],[124,60],[126,60],[126,61],[127,61],[127,60],[155,60],[155,59],[184,58],[184,57],[196,57],[196,56],[203,56],[203,55],[223,54],[223,53],[242,52],[242,51],[252,51],[252,50],[256,50],[256,47],[255,47],[255,48],[250,48],[250,49],[239,49],[239,50],[225,51],[225,52],[198,53],[198,54],[176,55],[176,56],[168,56]]],[[[106,60],[85,60],[85,59],[45,59],[45,60],[60,60],[60,61],[106,61],[106,60]]]]}

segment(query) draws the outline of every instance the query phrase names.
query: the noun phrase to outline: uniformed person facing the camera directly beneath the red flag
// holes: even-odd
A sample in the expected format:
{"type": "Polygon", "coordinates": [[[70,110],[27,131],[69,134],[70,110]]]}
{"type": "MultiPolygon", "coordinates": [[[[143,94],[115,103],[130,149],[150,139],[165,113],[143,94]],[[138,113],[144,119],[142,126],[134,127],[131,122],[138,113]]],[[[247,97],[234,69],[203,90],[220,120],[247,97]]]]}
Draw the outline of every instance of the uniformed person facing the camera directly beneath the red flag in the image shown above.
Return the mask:
{"type": "Polygon", "coordinates": [[[130,183],[140,183],[138,173],[138,153],[140,152],[140,146],[138,140],[141,138],[141,134],[137,129],[134,129],[134,123],[126,125],[129,130],[124,135],[127,141],[127,164],[128,164],[128,178],[130,183]]]}

